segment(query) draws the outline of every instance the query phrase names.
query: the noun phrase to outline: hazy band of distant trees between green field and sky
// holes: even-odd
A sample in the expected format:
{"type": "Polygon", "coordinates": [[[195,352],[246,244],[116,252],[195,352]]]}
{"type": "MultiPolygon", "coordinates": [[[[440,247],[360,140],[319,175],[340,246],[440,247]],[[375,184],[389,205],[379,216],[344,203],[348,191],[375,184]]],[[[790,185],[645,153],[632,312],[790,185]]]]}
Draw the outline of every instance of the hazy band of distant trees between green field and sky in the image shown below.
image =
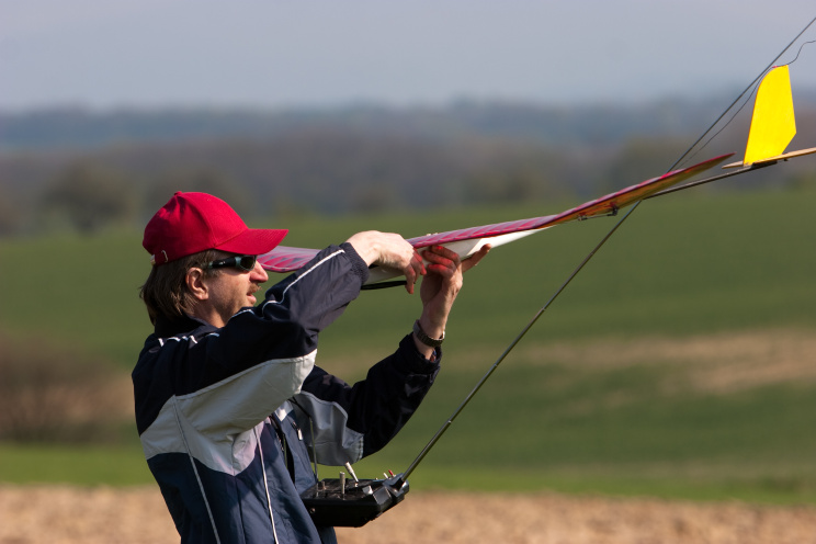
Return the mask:
{"type": "MultiPolygon", "coordinates": [[[[238,121],[248,121],[233,118],[226,126],[234,133],[213,128],[211,136],[189,128],[195,123],[184,117],[182,128],[197,136],[22,146],[0,154],[0,235],[140,226],[175,191],[209,192],[246,216],[263,217],[591,199],[673,163],[696,136],[690,120],[676,118],[678,111],[557,115],[520,105],[460,105],[438,118],[428,111],[292,114],[265,132],[258,122],[241,133],[238,121]],[[623,113],[626,127],[615,126],[623,113]],[[662,122],[644,118],[656,115],[662,122]],[[563,141],[552,137],[558,129],[563,141]]],[[[797,110],[802,140],[816,141],[814,112],[797,110]]],[[[156,121],[145,115],[132,123],[156,121]]],[[[27,134],[47,133],[47,118],[36,117],[27,134]]],[[[54,131],[63,134],[65,120],[57,118],[54,131]]],[[[8,139],[5,131],[0,136],[8,139]]],[[[736,120],[696,158],[741,150],[746,134],[747,120],[736,120]]],[[[794,168],[785,175],[803,174],[794,168]]],[[[755,175],[744,184],[779,181],[755,175]]]]}

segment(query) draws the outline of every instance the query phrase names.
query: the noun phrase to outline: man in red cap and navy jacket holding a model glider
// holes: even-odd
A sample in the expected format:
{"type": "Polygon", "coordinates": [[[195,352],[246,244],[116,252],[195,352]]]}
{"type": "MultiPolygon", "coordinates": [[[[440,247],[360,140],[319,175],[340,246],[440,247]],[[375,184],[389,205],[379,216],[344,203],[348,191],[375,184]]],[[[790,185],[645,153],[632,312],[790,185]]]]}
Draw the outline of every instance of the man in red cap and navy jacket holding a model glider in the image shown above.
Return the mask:
{"type": "Polygon", "coordinates": [[[398,235],[360,233],[272,286],[256,257],[286,230],[249,229],[224,202],[175,193],[143,245],[141,287],[155,326],[133,371],[148,466],[182,542],[336,542],[299,499],[316,481],[309,455],[354,463],[405,424],[439,372],[465,263],[444,248],[426,267],[398,235]],[[423,275],[422,311],[397,350],[349,386],[314,365],[318,333],[356,297],[369,267],[423,275]]]}

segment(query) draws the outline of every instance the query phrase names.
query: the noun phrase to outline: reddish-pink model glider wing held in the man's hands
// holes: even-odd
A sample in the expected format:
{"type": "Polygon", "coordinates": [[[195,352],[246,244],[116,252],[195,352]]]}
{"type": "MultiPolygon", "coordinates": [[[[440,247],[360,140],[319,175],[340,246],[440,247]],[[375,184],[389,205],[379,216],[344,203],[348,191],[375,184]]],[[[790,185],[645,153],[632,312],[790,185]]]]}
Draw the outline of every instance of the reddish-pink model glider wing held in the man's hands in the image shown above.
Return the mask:
{"type": "MultiPolygon", "coordinates": [[[[685,181],[698,173],[723,162],[732,155],[733,154],[722,155],[700,162],[699,165],[683,168],[681,170],[675,170],[658,178],[653,178],[636,185],[622,189],[615,193],[608,194],[607,196],[583,203],[580,206],[567,209],[557,215],[546,215],[543,217],[533,217],[531,219],[518,219],[506,223],[496,223],[494,225],[485,225],[481,227],[449,230],[446,233],[409,238],[408,241],[417,249],[427,248],[432,245],[450,245],[452,242],[476,239],[487,239],[485,241],[490,243],[489,238],[498,236],[529,230],[540,230],[570,220],[580,220],[599,215],[608,215],[668,189],[671,185],[685,181]]],[[[271,272],[292,272],[309,262],[317,252],[318,250],[316,249],[279,246],[269,253],[260,256],[258,260],[265,270],[271,272]]]]}

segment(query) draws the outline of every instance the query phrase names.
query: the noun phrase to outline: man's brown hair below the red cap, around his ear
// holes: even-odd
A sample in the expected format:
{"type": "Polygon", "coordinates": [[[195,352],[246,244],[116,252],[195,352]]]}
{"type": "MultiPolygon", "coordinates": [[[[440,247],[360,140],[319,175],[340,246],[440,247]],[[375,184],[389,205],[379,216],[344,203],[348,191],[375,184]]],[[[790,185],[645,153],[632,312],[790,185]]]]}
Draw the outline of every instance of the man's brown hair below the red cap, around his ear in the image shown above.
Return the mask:
{"type": "Polygon", "coordinates": [[[166,264],[154,265],[150,275],[147,276],[147,281],[139,291],[139,298],[147,306],[150,322],[156,325],[159,316],[173,319],[191,314],[195,298],[186,288],[188,270],[199,268],[204,271],[204,277],[214,277],[220,271],[205,267],[222,256],[222,251],[208,249],[166,264]]]}

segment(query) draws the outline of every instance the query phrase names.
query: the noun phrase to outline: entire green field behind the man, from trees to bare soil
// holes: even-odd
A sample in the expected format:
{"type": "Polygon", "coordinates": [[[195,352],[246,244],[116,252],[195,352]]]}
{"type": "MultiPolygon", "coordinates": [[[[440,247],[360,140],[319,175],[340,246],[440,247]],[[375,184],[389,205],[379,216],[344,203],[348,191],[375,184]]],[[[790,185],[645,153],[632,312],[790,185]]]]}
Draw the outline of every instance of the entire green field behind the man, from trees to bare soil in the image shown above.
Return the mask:
{"type": "MultiPolygon", "coordinates": [[[[816,379],[808,374],[816,355],[806,351],[816,331],[814,203],[813,191],[689,192],[644,203],[454,422],[412,476],[413,488],[816,502],[816,379]],[[791,343],[779,340],[785,335],[804,347],[801,358],[775,354],[791,343]],[[717,342],[735,338],[773,350],[739,352],[740,366],[732,360],[746,341],[717,342]],[[687,353],[692,342],[716,353],[687,353]],[[626,356],[642,345],[650,348],[626,356]],[[786,361],[798,361],[801,372],[770,372],[786,361]],[[771,378],[740,385],[763,367],[771,378]],[[714,378],[737,385],[710,386],[714,378]]],[[[367,228],[417,236],[567,205],[287,220],[286,243],[321,247],[367,228]]],[[[358,474],[404,469],[615,220],[536,234],[497,248],[469,273],[437,385],[358,474]]],[[[149,332],[136,296],[148,267],[138,233],[2,241],[0,322],[38,342],[70,342],[126,372],[149,332]]],[[[418,311],[418,297],[400,290],[361,294],[321,337],[319,364],[360,378],[418,311]]],[[[150,476],[135,440],[4,444],[0,481],[128,485],[150,476]]]]}

